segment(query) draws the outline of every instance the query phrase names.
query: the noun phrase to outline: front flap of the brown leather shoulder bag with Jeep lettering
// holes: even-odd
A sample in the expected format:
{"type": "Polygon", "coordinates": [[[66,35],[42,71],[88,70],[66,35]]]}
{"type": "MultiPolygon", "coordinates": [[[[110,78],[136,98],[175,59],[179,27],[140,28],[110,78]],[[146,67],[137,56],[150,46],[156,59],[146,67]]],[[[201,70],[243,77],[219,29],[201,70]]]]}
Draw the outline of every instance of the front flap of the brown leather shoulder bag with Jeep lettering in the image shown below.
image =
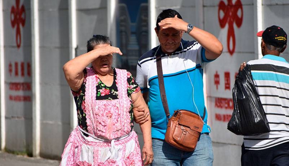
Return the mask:
{"type": "Polygon", "coordinates": [[[204,126],[199,115],[188,111],[181,113],[179,124],[189,127],[191,130],[197,131],[199,133],[202,132],[204,126]]]}

